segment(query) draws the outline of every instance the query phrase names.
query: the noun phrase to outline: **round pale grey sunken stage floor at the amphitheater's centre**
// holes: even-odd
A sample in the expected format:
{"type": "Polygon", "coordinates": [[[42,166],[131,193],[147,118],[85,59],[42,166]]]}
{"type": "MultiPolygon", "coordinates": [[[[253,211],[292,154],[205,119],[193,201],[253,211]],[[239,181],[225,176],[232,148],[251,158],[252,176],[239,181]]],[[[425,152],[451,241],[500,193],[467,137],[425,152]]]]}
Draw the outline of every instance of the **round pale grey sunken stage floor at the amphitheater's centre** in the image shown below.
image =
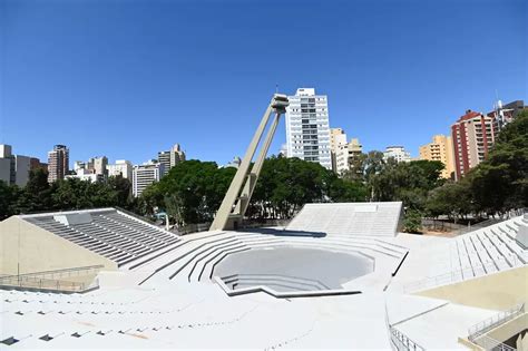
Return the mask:
{"type": "Polygon", "coordinates": [[[338,290],[374,270],[374,260],[320,248],[258,248],[229,255],[216,275],[233,290],[255,285],[277,292],[338,290]]]}

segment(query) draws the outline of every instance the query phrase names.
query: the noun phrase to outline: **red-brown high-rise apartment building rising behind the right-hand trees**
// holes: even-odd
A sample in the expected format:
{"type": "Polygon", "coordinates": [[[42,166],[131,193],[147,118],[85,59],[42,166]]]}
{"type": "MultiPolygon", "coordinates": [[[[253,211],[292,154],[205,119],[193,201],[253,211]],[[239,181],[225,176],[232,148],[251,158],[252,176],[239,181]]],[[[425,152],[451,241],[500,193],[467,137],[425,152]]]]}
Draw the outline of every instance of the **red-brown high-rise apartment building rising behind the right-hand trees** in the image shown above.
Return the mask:
{"type": "Polygon", "coordinates": [[[493,117],[470,109],[451,126],[457,181],[486,158],[495,144],[496,128],[493,117]]]}

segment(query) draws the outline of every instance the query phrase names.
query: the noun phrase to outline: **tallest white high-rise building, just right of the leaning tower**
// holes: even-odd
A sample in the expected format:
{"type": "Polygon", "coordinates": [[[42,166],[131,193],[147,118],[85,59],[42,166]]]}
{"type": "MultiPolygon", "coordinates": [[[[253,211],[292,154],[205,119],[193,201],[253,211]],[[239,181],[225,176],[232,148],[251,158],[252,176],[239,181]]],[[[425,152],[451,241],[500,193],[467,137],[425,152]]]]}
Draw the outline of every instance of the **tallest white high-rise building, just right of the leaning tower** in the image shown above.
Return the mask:
{"type": "Polygon", "coordinates": [[[327,97],[315,95],[313,88],[300,88],[287,98],[286,156],[332,169],[327,97]]]}

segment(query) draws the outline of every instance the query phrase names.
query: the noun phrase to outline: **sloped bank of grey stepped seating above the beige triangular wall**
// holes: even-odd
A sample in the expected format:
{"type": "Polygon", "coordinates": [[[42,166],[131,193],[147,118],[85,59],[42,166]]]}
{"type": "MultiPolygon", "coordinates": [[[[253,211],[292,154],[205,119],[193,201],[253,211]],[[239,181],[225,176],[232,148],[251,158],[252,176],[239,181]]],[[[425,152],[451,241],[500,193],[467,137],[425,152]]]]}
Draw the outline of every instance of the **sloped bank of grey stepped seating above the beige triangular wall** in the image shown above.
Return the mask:
{"type": "MultiPolygon", "coordinates": [[[[82,212],[79,212],[82,213],[82,212]]],[[[23,220],[77,245],[88,248],[119,266],[160,248],[176,244],[179,237],[116,209],[90,211],[89,222],[61,223],[53,214],[27,215],[23,220]]]]}

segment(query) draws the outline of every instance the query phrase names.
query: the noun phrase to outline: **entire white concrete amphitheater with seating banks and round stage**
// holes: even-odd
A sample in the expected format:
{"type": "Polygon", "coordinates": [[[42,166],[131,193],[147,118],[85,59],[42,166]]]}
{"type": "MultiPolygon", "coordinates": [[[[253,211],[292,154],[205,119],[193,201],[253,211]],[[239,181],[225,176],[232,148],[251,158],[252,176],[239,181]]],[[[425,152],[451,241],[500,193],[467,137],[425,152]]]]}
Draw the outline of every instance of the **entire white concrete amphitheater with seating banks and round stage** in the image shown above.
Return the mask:
{"type": "Polygon", "coordinates": [[[185,236],[116,208],[12,216],[0,349],[527,348],[528,217],[448,238],[399,233],[401,212],[185,236]]]}

